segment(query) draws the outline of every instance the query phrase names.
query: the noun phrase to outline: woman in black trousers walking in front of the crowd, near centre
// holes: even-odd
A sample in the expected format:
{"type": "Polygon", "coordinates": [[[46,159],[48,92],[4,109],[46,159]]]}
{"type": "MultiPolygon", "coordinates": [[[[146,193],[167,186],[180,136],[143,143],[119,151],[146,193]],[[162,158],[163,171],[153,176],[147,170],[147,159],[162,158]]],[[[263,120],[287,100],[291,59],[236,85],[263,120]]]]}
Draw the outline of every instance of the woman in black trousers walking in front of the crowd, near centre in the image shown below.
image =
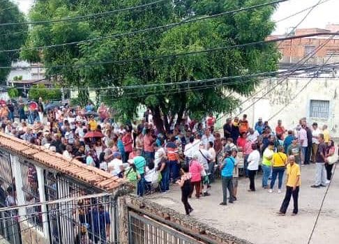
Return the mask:
{"type": "Polygon", "coordinates": [[[192,185],[190,183],[191,176],[187,165],[183,165],[183,167],[181,167],[181,174],[181,178],[176,181],[176,183],[181,188],[181,201],[185,207],[186,215],[190,215],[193,208],[188,203],[188,197],[190,196],[190,192],[192,192],[192,185]]]}

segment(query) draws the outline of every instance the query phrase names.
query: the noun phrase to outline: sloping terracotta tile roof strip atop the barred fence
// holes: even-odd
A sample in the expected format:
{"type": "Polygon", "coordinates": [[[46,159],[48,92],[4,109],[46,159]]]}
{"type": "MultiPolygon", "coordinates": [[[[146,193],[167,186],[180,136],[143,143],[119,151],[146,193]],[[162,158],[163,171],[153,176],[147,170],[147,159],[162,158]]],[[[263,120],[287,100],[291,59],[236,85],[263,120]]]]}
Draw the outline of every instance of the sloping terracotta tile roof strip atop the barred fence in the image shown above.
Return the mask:
{"type": "Polygon", "coordinates": [[[9,149],[26,158],[39,162],[46,167],[52,167],[61,173],[68,174],[77,180],[93,185],[101,190],[115,190],[120,188],[125,181],[112,174],[84,165],[79,160],[64,158],[59,153],[54,153],[46,148],[30,144],[22,139],[11,137],[0,132],[0,147],[9,149]]]}

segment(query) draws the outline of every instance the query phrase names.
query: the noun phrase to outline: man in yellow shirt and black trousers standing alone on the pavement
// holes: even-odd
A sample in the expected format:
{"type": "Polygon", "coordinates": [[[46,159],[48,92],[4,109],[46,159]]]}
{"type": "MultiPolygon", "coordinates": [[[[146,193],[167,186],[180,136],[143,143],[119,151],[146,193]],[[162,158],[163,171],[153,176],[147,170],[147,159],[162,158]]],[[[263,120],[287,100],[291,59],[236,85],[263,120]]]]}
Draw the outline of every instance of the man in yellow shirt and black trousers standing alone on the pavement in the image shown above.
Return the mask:
{"type": "Polygon", "coordinates": [[[298,213],[298,195],[299,195],[299,187],[301,183],[300,179],[300,167],[294,162],[294,156],[290,155],[289,164],[287,165],[287,178],[286,178],[286,195],[281,204],[279,214],[285,215],[289,201],[291,200],[291,195],[293,197],[294,209],[292,215],[296,215],[298,213]]]}

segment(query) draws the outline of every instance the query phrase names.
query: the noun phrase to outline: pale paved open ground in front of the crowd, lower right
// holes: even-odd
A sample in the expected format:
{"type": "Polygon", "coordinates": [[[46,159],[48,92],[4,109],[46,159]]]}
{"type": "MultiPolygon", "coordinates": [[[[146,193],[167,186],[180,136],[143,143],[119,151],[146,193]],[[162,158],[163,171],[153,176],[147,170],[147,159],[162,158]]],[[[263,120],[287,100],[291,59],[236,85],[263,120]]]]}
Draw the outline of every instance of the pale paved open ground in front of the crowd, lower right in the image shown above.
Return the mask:
{"type": "MultiPolygon", "coordinates": [[[[310,243],[336,244],[339,234],[339,165],[336,166],[331,187],[319,215],[316,229],[310,243]]],[[[315,175],[315,165],[301,168],[301,190],[299,192],[299,214],[292,216],[292,201],[287,215],[276,213],[285,196],[285,191],[269,194],[260,188],[261,175],[256,179],[257,192],[247,192],[248,179],[239,181],[238,201],[227,206],[219,206],[222,201],[220,182],[212,186],[211,196],[191,199],[195,209],[194,218],[209,223],[222,231],[255,244],[308,243],[308,238],[315,224],[320,204],[326,188],[310,188],[315,175]]],[[[150,196],[153,201],[184,213],[180,201],[180,191],[172,186],[167,194],[150,196]]]]}

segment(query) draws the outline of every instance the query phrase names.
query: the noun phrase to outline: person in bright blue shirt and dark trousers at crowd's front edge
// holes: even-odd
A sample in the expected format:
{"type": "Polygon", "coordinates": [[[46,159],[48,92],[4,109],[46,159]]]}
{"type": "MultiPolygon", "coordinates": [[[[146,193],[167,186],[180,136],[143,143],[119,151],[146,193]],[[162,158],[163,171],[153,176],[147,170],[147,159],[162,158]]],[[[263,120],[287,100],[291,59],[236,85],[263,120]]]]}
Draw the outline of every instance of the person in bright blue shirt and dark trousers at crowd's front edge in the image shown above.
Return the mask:
{"type": "Polygon", "coordinates": [[[229,203],[233,204],[233,171],[236,165],[236,160],[231,156],[232,152],[227,151],[225,159],[220,165],[221,185],[223,187],[223,202],[220,205],[227,205],[227,189],[229,191],[229,203]]]}

